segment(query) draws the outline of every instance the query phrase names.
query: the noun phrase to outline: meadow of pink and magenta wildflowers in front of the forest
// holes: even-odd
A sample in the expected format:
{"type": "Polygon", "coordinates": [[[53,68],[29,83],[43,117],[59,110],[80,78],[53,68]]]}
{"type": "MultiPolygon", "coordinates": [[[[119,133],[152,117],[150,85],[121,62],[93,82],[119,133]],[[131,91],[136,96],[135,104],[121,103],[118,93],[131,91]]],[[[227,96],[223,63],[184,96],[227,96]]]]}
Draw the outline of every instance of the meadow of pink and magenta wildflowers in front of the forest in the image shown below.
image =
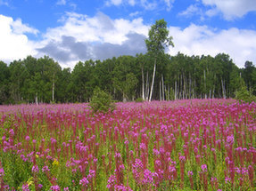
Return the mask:
{"type": "Polygon", "coordinates": [[[256,104],[0,106],[0,190],[255,190],[256,104]]]}

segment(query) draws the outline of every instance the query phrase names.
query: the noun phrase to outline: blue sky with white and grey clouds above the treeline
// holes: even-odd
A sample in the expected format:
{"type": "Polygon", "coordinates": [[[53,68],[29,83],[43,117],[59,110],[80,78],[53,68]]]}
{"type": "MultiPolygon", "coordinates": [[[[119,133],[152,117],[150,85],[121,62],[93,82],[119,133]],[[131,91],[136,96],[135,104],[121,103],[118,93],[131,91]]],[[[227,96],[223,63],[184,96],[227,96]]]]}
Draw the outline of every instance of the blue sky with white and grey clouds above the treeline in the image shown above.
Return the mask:
{"type": "Polygon", "coordinates": [[[239,68],[256,65],[256,0],[0,0],[0,60],[47,55],[74,68],[135,56],[161,19],[172,56],[227,53],[239,68]]]}

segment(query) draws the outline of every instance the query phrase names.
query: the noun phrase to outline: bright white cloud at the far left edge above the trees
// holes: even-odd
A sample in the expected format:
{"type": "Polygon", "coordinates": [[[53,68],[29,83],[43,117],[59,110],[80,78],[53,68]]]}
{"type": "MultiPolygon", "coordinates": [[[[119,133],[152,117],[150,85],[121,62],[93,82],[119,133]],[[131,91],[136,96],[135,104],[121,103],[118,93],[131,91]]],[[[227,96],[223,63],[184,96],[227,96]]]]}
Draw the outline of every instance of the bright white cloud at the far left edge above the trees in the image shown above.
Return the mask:
{"type": "Polygon", "coordinates": [[[0,14],[0,60],[10,62],[34,55],[34,45],[24,33],[37,34],[35,28],[21,23],[21,20],[12,20],[0,14]]]}

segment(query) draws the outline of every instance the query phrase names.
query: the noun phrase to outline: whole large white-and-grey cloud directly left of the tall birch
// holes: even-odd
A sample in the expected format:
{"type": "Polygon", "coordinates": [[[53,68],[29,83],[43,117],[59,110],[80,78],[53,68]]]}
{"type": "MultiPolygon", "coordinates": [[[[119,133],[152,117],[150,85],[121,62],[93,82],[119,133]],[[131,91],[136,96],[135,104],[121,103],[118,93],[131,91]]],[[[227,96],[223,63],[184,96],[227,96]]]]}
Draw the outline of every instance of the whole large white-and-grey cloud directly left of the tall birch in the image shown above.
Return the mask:
{"type": "Polygon", "coordinates": [[[63,64],[75,60],[135,56],[146,51],[148,28],[142,19],[111,20],[103,12],[98,12],[95,17],[68,13],[62,18],[60,27],[48,28],[37,52],[38,56],[47,54],[63,64]]]}

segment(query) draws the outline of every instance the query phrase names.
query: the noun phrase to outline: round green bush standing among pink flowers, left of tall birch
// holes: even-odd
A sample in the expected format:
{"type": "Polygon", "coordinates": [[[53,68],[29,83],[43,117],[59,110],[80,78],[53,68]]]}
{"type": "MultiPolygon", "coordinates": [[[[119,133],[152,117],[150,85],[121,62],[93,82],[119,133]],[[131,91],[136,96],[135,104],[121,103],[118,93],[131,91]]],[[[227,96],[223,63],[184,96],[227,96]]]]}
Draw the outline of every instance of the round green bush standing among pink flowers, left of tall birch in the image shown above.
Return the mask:
{"type": "Polygon", "coordinates": [[[109,110],[113,111],[115,108],[111,95],[107,92],[103,92],[99,87],[95,88],[89,105],[94,112],[106,113],[109,110]]]}

